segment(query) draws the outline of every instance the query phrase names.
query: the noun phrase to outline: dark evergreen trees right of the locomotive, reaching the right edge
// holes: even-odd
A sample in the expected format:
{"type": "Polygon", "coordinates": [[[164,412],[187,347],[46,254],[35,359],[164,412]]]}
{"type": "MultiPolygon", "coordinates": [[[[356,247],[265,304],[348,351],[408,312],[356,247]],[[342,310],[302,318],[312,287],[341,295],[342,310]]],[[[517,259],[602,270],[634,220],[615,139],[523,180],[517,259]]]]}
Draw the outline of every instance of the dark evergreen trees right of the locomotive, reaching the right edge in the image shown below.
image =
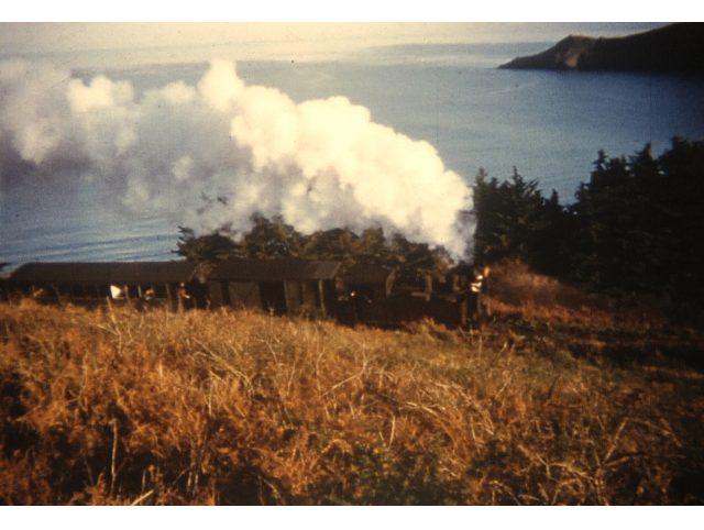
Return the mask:
{"type": "Polygon", "coordinates": [[[704,142],[675,137],[660,156],[603,151],[563,206],[517,170],[474,186],[474,262],[506,258],[610,295],[704,299],[704,142]]]}

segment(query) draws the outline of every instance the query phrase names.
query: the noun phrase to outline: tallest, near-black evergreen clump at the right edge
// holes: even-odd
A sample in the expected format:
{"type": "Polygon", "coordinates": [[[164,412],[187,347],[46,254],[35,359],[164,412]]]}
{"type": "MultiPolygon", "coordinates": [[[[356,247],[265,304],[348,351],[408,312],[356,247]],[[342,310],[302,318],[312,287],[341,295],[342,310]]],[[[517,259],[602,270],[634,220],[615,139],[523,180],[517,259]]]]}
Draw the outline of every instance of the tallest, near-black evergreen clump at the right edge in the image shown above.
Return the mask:
{"type": "Polygon", "coordinates": [[[673,299],[704,294],[704,143],[674,139],[626,159],[601,152],[571,212],[578,230],[571,277],[610,292],[673,299]]]}

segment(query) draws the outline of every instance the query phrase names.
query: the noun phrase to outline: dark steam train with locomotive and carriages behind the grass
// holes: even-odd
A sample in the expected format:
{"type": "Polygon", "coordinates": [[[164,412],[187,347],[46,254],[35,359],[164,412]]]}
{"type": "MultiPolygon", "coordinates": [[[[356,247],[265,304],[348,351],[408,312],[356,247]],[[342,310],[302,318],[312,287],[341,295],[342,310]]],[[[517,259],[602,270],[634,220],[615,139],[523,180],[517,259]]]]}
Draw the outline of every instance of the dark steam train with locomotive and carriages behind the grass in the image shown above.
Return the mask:
{"type": "Polygon", "coordinates": [[[443,276],[425,272],[415,281],[399,281],[395,269],[371,264],[344,268],[336,261],[29,263],[1,281],[0,297],[91,307],[258,308],[382,327],[430,318],[465,327],[480,317],[474,286],[462,270],[443,276]]]}

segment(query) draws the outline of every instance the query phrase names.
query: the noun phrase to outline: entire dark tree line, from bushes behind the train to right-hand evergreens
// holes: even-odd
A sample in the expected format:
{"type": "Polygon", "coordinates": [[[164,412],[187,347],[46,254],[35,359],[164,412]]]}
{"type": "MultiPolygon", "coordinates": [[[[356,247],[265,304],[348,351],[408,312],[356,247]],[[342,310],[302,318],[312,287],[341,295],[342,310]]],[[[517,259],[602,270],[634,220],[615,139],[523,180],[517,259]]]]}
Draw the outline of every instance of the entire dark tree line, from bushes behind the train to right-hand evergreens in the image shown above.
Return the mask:
{"type": "MultiPolygon", "coordinates": [[[[574,202],[518,170],[506,180],[480,170],[473,185],[476,223],[472,255],[459,265],[520,260],[536,272],[609,295],[648,294],[673,301],[704,300],[704,142],[673,139],[653,157],[650,145],[632,156],[603,151],[574,202]]],[[[196,261],[230,257],[338,260],[372,263],[400,276],[446,270],[442,249],[411,243],[370,228],[361,234],[337,228],[301,234],[280,217],[255,216],[252,229],[229,228],[196,236],[180,227],[179,255],[196,261]]]]}

